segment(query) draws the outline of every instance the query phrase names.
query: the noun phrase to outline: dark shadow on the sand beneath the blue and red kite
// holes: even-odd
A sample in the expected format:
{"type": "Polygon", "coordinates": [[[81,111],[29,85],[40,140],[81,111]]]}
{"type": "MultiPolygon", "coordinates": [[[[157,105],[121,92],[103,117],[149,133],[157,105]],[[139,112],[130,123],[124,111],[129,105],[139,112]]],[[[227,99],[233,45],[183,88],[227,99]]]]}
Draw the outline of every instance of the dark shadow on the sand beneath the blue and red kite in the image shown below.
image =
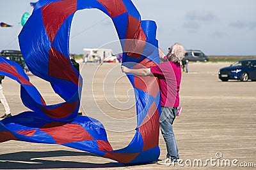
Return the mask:
{"type": "Polygon", "coordinates": [[[0,169],[52,169],[52,168],[94,168],[94,167],[122,167],[118,162],[109,162],[104,164],[93,164],[86,162],[61,161],[61,160],[43,160],[44,157],[72,157],[72,156],[95,156],[87,152],[70,152],[64,150],[49,152],[16,152],[0,155],[0,169]],[[32,160],[31,160],[32,159],[32,160]]]}

